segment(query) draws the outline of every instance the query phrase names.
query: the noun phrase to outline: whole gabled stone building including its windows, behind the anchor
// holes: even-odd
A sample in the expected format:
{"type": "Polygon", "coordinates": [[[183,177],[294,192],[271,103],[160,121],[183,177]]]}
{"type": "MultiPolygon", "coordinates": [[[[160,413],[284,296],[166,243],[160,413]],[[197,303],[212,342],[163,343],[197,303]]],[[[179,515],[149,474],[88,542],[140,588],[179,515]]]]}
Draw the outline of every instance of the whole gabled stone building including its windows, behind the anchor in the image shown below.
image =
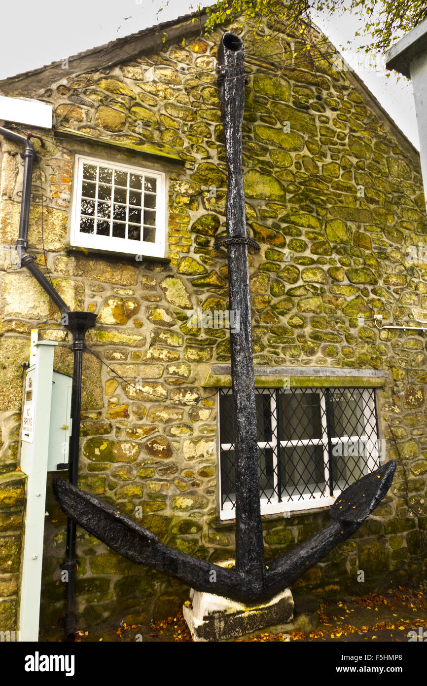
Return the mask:
{"type": "MultiPolygon", "coordinates": [[[[214,246],[225,231],[227,175],[221,32],[201,36],[194,18],[8,78],[0,93],[53,106],[53,128],[36,130],[44,144],[34,139],[41,178],[36,166],[29,251],[71,309],[97,314],[86,336],[96,357],[84,355],[80,487],[168,545],[216,561],[234,546],[229,337],[220,325],[227,255],[214,246]]],[[[352,71],[304,51],[297,34],[263,40],[250,27],[234,30],[246,47],[247,227],[261,247],[249,248],[249,263],[266,559],[319,530],[346,483],[398,459],[381,506],[293,587],[302,606],[424,573],[426,346],[424,331],[411,327],[427,317],[427,270],[408,253],[427,245],[425,202],[417,151],[352,71]]],[[[6,629],[16,626],[19,593],[31,329],[58,342],[55,368],[72,373],[58,310],[12,264],[20,152],[1,139],[6,629]]],[[[50,484],[51,475],[42,628],[58,622],[64,603],[65,517],[50,484]]],[[[80,626],[164,617],[188,597],[84,530],[77,558],[80,626]]]]}

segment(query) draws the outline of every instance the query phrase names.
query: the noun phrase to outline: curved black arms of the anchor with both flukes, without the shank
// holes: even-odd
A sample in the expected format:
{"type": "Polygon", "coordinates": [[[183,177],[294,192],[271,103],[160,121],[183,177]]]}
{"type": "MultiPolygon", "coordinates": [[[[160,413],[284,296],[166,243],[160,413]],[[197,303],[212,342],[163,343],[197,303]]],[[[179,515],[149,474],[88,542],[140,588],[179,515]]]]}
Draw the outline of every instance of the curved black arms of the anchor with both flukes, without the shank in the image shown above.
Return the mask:
{"type": "Polygon", "coordinates": [[[128,560],[165,572],[196,591],[250,603],[280,593],[352,536],[385,497],[395,469],[396,462],[391,460],[344,490],[330,509],[330,523],[302,545],[269,563],[263,587],[258,589],[239,570],[224,569],[162,545],[157,536],[130,517],[73,484],[56,478],[53,493],[65,514],[128,560]]]}

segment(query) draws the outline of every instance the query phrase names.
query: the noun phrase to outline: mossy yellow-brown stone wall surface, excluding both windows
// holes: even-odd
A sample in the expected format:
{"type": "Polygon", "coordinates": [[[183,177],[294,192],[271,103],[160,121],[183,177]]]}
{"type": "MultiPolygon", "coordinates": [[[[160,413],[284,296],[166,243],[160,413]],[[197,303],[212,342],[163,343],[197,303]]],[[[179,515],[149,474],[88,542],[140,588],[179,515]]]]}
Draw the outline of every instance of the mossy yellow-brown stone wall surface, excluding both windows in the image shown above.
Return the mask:
{"type": "MultiPolygon", "coordinates": [[[[380,433],[387,457],[395,457],[388,423],[393,427],[401,456],[374,516],[294,591],[320,598],[420,578],[426,552],[419,528],[427,528],[424,333],[380,332],[372,318],[376,312],[384,324],[400,324],[427,313],[425,265],[406,257],[407,246],[427,245],[419,158],[352,73],[313,61],[296,38],[264,42],[249,29],[242,35],[247,224],[261,246],[249,255],[255,364],[305,366],[308,375],[310,367],[389,370],[377,392],[380,433]],[[358,569],[365,584],[356,582],[358,569]]],[[[86,73],[58,67],[41,90],[32,91],[31,75],[0,83],[8,95],[25,92],[52,104],[56,121],[64,117],[62,133],[42,132],[45,147],[35,143],[53,284],[73,309],[98,315],[87,343],[102,362],[84,355],[80,486],[131,516],[141,507],[137,521],[163,542],[211,561],[230,558],[234,545],[233,523],[219,523],[217,398],[204,386],[211,363],[230,359],[229,342],[221,329],[188,327],[187,311],[228,307],[226,253],[213,245],[225,231],[227,182],[215,88],[219,38],[184,36],[113,67],[95,62],[86,73]],[[82,152],[167,172],[170,263],[69,249],[73,157],[82,152]],[[114,372],[143,379],[141,390],[114,372]]],[[[1,244],[18,233],[22,177],[18,147],[3,141],[1,244]]],[[[40,199],[35,171],[29,249],[46,272],[40,199]]],[[[59,342],[58,370],[71,373],[72,361],[58,311],[38,284],[7,262],[1,269],[0,471],[8,474],[18,464],[21,362],[30,329],[59,342]]],[[[47,510],[45,627],[63,611],[65,547],[65,518],[51,495],[47,510]]],[[[327,520],[327,510],[265,518],[267,559],[327,520]]],[[[182,584],[127,562],[83,530],[77,539],[82,626],[164,617],[186,599],[182,584]]]]}

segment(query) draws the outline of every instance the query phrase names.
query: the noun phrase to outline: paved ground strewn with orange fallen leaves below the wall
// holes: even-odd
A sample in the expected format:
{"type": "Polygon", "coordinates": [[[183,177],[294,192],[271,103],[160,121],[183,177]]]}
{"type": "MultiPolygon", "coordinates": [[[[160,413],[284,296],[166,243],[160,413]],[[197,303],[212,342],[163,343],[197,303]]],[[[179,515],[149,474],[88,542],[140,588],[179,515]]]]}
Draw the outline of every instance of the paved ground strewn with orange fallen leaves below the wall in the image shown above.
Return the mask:
{"type": "MultiPolygon", "coordinates": [[[[305,622],[303,630],[271,627],[265,632],[252,634],[236,641],[408,641],[408,631],[422,627],[427,630],[427,593],[422,586],[398,587],[384,595],[367,595],[365,598],[352,598],[346,601],[322,603],[312,620],[305,622]],[[317,624],[314,628],[313,625],[317,624]]],[[[300,622],[301,625],[304,622],[300,622]]],[[[40,640],[61,640],[58,628],[53,627],[49,635],[40,640]]],[[[80,632],[78,641],[191,641],[182,612],[162,622],[152,622],[145,626],[118,626],[103,628],[99,626],[80,632]]]]}

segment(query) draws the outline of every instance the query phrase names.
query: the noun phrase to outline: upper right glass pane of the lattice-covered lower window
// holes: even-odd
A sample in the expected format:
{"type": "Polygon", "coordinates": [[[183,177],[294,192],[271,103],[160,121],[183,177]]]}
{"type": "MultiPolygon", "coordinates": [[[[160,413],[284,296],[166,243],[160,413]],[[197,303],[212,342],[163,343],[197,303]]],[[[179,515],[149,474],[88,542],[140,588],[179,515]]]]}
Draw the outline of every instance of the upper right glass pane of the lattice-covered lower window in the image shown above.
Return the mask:
{"type": "Polygon", "coordinates": [[[363,391],[334,388],[330,393],[330,405],[331,436],[362,436],[365,431],[363,391]]]}

